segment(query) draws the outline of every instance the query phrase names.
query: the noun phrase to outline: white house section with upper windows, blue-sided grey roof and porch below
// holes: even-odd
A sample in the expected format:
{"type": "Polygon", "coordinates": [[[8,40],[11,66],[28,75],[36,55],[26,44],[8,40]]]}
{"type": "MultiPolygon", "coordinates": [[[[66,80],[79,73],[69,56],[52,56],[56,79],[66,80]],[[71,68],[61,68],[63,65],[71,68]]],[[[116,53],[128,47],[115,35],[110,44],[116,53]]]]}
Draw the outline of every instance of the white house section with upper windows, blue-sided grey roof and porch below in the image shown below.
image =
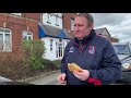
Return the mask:
{"type": "Polygon", "coordinates": [[[38,24],[39,38],[45,41],[46,53],[44,58],[49,60],[62,59],[64,48],[72,38],[63,29],[62,13],[44,13],[41,23],[38,24]]]}

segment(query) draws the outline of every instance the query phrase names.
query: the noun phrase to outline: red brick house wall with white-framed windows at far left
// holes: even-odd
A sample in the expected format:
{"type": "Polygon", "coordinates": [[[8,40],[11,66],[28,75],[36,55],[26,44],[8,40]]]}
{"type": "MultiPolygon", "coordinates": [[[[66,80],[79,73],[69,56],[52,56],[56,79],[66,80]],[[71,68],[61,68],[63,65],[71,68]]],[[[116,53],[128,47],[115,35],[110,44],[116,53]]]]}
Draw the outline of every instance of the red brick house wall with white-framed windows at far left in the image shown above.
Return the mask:
{"type": "Polygon", "coordinates": [[[0,51],[19,52],[22,40],[38,39],[39,13],[0,13],[0,51]]]}

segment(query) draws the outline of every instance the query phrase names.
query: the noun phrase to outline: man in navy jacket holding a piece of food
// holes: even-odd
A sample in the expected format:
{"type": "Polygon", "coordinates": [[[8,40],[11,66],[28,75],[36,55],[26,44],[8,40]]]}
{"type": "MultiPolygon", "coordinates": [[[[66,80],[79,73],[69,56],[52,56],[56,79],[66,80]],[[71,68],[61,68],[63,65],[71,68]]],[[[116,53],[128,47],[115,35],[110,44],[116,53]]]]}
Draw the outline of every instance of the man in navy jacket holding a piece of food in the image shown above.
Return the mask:
{"type": "Polygon", "coordinates": [[[79,13],[74,19],[74,39],[64,51],[59,83],[67,85],[107,85],[121,74],[121,63],[110,44],[97,36],[94,19],[88,13],[79,13]],[[68,63],[76,63],[83,70],[71,72],[68,63]]]}

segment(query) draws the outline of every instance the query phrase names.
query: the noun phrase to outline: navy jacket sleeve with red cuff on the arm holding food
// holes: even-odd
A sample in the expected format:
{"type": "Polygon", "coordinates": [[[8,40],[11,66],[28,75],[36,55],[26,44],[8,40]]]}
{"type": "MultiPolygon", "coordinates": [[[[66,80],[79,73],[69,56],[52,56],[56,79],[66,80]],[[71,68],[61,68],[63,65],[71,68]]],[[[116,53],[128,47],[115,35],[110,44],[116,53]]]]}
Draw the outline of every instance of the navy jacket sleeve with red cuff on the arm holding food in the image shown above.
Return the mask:
{"type": "Polygon", "coordinates": [[[121,62],[119,61],[115,49],[110,42],[108,42],[103,51],[103,62],[99,70],[88,70],[90,77],[96,78],[103,85],[111,84],[117,81],[121,75],[121,62]]]}

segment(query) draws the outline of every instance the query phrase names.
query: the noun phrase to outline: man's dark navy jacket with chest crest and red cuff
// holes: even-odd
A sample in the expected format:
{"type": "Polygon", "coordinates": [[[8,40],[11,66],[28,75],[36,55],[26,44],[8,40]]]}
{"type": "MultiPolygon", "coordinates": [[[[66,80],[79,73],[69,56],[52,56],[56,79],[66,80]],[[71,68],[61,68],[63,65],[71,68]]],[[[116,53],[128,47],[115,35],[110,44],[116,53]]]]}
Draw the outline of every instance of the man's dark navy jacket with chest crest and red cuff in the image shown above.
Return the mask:
{"type": "Polygon", "coordinates": [[[97,36],[94,29],[84,38],[82,48],[76,38],[67,45],[61,63],[61,73],[67,74],[67,85],[93,85],[96,82],[107,85],[121,75],[121,63],[114,47],[108,39],[97,36]],[[68,63],[72,62],[90,71],[87,81],[76,78],[69,71],[68,63]]]}

